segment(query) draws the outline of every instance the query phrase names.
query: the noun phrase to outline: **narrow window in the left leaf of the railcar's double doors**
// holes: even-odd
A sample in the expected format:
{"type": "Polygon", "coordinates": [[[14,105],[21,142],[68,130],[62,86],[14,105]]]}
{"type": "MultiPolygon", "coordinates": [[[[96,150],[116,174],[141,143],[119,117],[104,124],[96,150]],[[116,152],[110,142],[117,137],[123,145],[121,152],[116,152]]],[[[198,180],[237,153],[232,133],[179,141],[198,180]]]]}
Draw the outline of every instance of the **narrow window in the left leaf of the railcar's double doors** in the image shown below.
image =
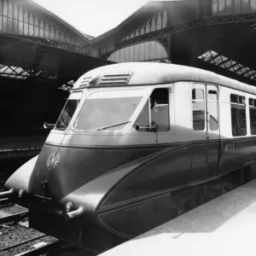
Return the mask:
{"type": "Polygon", "coordinates": [[[195,131],[205,130],[205,99],[204,90],[192,90],[192,111],[193,111],[193,128],[195,131]]]}

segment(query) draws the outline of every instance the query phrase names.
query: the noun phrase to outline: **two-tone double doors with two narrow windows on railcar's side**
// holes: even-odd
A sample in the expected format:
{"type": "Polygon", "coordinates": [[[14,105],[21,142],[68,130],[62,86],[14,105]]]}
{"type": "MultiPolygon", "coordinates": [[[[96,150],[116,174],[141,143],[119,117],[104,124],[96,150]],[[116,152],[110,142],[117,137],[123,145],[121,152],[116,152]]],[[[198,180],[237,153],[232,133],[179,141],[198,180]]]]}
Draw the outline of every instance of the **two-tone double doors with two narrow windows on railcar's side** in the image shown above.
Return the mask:
{"type": "Polygon", "coordinates": [[[218,172],[218,87],[192,85],[192,168],[190,181],[218,172]]]}

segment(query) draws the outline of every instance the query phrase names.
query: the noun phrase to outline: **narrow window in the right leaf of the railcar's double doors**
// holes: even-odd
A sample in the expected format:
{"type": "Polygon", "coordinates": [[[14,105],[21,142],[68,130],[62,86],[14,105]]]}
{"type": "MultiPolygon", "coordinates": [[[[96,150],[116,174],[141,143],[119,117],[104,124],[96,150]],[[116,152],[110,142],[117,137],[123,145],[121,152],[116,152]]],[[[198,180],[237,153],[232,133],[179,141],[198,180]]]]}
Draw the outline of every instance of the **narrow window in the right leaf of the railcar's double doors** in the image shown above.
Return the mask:
{"type": "Polygon", "coordinates": [[[208,90],[207,92],[207,113],[209,128],[211,131],[218,130],[218,91],[208,90]]]}

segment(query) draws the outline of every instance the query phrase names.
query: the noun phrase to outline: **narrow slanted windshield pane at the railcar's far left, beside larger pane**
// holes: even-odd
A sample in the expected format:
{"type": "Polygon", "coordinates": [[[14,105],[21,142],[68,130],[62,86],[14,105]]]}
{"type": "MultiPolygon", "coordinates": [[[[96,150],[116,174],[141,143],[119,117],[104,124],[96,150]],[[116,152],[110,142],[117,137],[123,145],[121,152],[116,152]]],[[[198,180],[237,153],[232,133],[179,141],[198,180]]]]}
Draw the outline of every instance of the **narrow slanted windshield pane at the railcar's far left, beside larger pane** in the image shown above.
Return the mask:
{"type": "Polygon", "coordinates": [[[59,119],[57,120],[55,129],[66,130],[67,125],[69,125],[70,120],[73,117],[73,113],[78,108],[81,97],[82,97],[81,91],[73,92],[69,96],[67,103],[66,103],[65,107],[63,108],[59,119]]]}

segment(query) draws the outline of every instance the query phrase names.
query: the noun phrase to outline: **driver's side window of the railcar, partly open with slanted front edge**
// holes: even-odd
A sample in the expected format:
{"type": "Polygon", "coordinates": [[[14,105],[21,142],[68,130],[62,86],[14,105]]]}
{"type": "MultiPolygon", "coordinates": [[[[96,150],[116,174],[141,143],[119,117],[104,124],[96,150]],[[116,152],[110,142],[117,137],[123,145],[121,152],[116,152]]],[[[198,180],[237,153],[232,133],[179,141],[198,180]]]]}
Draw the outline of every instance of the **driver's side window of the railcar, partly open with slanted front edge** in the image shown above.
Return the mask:
{"type": "Polygon", "coordinates": [[[157,131],[170,130],[169,90],[167,88],[154,89],[135,123],[140,127],[157,125],[157,131]],[[150,108],[150,112],[148,112],[148,108],[150,108]],[[150,124],[149,120],[151,120],[150,124]]]}

